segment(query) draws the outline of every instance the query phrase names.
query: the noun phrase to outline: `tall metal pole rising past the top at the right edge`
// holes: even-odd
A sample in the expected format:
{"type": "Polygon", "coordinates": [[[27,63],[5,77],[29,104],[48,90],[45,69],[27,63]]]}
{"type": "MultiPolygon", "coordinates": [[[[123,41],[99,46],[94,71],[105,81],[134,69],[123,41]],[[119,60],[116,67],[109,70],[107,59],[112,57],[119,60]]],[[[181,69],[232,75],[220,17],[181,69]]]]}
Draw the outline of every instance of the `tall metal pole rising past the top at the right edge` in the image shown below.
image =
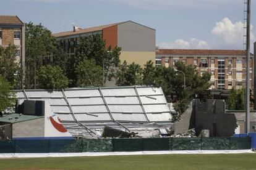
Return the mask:
{"type": "Polygon", "coordinates": [[[246,26],[246,127],[245,132],[250,132],[250,0],[247,0],[247,26],[246,26]]]}

